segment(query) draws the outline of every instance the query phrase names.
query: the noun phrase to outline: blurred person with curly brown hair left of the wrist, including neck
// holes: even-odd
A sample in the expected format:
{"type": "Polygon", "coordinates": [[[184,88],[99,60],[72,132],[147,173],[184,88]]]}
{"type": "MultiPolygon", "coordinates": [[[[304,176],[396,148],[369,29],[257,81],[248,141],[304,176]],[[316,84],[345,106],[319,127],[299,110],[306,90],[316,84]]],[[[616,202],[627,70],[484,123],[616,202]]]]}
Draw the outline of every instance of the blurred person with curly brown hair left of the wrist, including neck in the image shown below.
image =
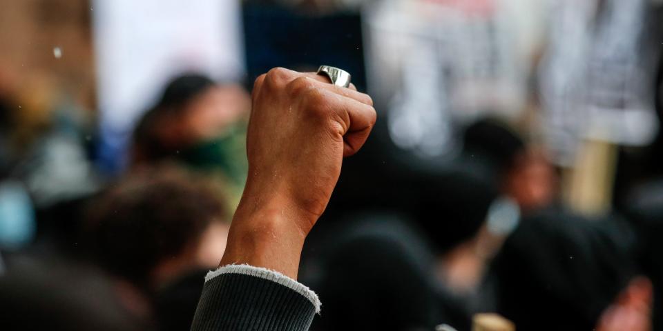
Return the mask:
{"type": "Polygon", "coordinates": [[[93,200],[87,222],[94,261],[124,284],[131,308],[162,330],[188,328],[225,249],[221,194],[174,167],[143,169],[93,200]]]}

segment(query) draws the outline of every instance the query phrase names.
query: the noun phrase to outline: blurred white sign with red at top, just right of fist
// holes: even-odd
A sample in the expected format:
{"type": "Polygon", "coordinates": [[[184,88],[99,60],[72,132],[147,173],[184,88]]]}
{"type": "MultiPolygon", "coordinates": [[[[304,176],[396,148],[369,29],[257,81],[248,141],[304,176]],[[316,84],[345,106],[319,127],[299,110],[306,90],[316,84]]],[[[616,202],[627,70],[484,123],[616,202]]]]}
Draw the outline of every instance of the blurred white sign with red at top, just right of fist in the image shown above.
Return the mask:
{"type": "Polygon", "coordinates": [[[369,6],[369,92],[387,100],[396,146],[419,157],[454,154],[457,126],[514,119],[526,101],[514,1],[382,1],[369,6]]]}

